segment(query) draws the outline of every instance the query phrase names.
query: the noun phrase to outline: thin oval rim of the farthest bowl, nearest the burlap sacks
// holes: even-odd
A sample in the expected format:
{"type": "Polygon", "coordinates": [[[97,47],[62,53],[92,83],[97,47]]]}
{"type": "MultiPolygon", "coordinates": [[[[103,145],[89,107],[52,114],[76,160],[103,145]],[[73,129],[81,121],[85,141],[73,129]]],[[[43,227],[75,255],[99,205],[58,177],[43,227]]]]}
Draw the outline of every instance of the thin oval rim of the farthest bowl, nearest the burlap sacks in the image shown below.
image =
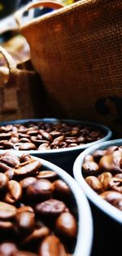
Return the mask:
{"type": "MultiPolygon", "coordinates": [[[[108,139],[111,138],[112,135],[112,131],[109,127],[104,126],[100,123],[95,123],[95,122],[91,122],[91,121],[81,121],[81,120],[75,120],[75,119],[58,119],[58,118],[40,118],[40,119],[34,119],[34,118],[30,118],[30,119],[20,119],[20,120],[12,120],[12,121],[0,121],[0,126],[7,126],[9,124],[23,124],[26,123],[28,121],[32,121],[32,122],[37,122],[37,121],[43,121],[43,122],[56,122],[56,121],[64,121],[64,122],[69,122],[69,123],[74,123],[74,124],[86,124],[88,126],[94,126],[94,127],[98,127],[100,129],[102,129],[103,131],[105,131],[107,133],[107,135],[105,135],[102,139],[98,139],[94,142],[91,143],[86,143],[82,146],[76,146],[76,147],[71,147],[71,148],[57,148],[57,149],[48,149],[48,150],[21,150],[20,152],[27,152],[27,153],[31,153],[31,154],[38,154],[41,153],[41,156],[45,155],[45,154],[54,154],[55,152],[57,153],[62,153],[62,152],[74,152],[77,150],[84,150],[85,148],[89,148],[93,145],[96,145],[98,143],[102,143],[104,141],[107,141],[108,139]]],[[[2,149],[3,151],[5,149],[2,149]]]]}

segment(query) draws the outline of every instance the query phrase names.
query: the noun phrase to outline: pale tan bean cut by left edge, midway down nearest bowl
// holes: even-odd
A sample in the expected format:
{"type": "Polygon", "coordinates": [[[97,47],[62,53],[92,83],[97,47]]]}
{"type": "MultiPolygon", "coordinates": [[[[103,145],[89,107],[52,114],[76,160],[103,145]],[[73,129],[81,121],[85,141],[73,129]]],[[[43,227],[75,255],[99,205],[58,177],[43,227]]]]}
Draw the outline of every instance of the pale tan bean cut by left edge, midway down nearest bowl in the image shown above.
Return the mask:
{"type": "Polygon", "coordinates": [[[15,217],[16,207],[0,201],[0,219],[8,220],[15,217]]]}

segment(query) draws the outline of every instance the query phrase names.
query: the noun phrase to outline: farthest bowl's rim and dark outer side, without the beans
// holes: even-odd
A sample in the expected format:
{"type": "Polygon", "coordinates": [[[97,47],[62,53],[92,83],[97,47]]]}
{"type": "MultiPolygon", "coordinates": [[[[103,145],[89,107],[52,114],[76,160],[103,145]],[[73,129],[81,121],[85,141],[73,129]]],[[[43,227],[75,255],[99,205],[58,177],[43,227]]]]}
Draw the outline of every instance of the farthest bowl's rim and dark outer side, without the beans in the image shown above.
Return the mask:
{"type": "MultiPolygon", "coordinates": [[[[98,127],[99,129],[103,130],[105,136],[102,139],[98,139],[97,141],[86,143],[81,146],[76,146],[72,148],[60,148],[60,149],[50,149],[50,150],[29,150],[26,151],[28,154],[31,154],[35,157],[42,157],[47,161],[51,161],[55,165],[63,168],[63,170],[68,171],[69,174],[72,174],[72,166],[76,159],[76,157],[83,151],[85,148],[89,148],[90,146],[101,143],[103,141],[107,141],[111,138],[112,132],[107,126],[103,126],[101,124],[96,124],[93,122],[88,121],[77,121],[77,120],[70,120],[70,119],[56,119],[56,118],[42,118],[42,119],[26,119],[26,120],[16,120],[16,121],[3,121],[0,122],[0,126],[6,126],[8,124],[25,124],[28,121],[33,122],[47,122],[47,123],[54,123],[56,121],[64,121],[68,123],[74,124],[85,124],[86,126],[94,126],[98,127]]],[[[21,151],[22,152],[22,151],[21,151]]],[[[25,151],[24,151],[25,152],[25,151]]]]}

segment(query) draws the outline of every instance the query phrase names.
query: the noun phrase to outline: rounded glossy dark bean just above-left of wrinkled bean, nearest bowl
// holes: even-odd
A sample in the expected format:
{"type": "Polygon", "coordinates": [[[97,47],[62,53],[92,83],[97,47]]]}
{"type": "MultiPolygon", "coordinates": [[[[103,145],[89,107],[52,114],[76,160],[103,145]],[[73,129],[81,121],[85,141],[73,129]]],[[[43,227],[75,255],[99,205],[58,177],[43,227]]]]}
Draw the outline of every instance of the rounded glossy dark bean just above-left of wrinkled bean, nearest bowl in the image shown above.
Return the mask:
{"type": "Polygon", "coordinates": [[[52,196],[53,186],[48,179],[37,179],[27,188],[27,196],[30,199],[44,201],[52,196]]]}

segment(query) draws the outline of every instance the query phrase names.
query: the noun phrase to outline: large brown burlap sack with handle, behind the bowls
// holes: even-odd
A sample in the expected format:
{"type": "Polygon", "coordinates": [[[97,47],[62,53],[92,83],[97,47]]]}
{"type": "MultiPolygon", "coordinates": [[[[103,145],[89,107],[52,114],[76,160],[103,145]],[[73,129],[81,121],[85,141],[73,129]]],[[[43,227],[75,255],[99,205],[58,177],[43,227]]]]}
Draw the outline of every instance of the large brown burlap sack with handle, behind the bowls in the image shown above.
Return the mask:
{"type": "MultiPolygon", "coordinates": [[[[21,25],[49,116],[101,122],[122,136],[122,1],[82,0],[21,25]]],[[[52,6],[53,7],[53,6],[52,6]]]]}

